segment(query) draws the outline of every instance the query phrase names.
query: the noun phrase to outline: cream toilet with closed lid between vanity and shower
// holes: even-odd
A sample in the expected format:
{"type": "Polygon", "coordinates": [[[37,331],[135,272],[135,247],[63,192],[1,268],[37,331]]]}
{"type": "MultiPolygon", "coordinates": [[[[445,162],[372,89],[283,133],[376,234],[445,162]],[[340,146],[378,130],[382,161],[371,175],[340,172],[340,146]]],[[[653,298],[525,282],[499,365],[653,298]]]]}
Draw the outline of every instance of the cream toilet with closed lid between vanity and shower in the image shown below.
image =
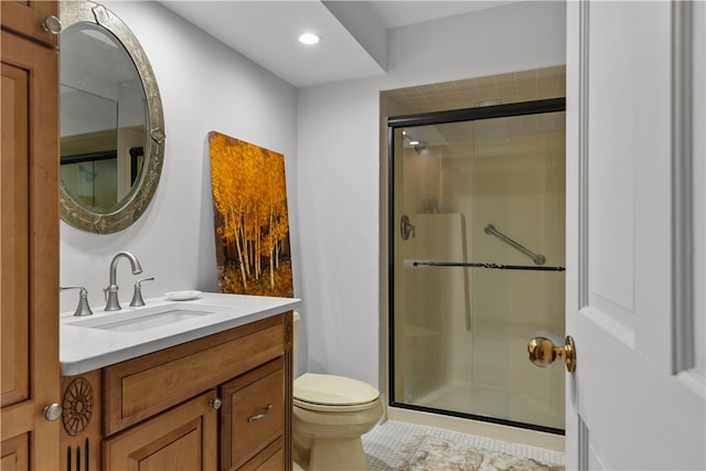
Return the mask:
{"type": "MultiPolygon", "coordinates": [[[[296,351],[298,312],[293,323],[296,351]]],[[[367,470],[361,436],[383,417],[379,392],[357,379],[314,373],[299,376],[293,386],[295,469],[367,470]]]]}

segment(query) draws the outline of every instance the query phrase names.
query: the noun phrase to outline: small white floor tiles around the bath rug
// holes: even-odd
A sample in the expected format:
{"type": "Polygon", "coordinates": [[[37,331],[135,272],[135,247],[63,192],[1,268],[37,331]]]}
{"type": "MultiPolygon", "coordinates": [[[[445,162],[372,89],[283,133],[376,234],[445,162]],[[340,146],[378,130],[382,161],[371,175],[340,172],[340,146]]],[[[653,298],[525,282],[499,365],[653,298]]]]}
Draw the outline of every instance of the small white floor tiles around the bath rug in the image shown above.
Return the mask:
{"type": "Polygon", "coordinates": [[[563,452],[464,435],[440,428],[388,420],[363,436],[363,449],[367,456],[370,471],[393,471],[398,469],[403,464],[402,450],[405,443],[413,437],[420,435],[450,440],[459,446],[531,458],[546,464],[564,465],[563,452]]]}

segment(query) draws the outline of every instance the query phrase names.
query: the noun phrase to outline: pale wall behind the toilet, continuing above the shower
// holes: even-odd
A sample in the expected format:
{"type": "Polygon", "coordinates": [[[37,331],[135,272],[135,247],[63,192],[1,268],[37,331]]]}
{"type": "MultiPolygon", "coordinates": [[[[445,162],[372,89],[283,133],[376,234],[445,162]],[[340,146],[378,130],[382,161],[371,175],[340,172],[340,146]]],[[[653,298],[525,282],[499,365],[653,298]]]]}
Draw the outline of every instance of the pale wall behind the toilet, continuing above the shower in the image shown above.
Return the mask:
{"type": "Polygon", "coordinates": [[[565,64],[565,17],[564,2],[528,1],[397,28],[385,76],[299,90],[309,371],[379,385],[379,92],[565,64]]]}

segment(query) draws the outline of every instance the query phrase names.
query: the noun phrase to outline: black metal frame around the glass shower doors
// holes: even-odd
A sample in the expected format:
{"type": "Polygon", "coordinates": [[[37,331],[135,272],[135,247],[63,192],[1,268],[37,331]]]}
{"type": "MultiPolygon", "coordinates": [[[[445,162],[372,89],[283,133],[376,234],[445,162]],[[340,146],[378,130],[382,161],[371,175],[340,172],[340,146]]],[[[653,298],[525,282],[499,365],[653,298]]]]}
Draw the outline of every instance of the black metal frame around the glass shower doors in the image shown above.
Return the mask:
{"type": "Polygon", "coordinates": [[[438,409],[395,400],[395,237],[399,225],[395,221],[395,130],[410,126],[431,126],[480,119],[509,118],[546,113],[565,113],[566,98],[548,98],[534,101],[520,101],[477,108],[453,109],[413,115],[400,115],[387,118],[387,393],[388,406],[421,413],[439,414],[463,419],[503,426],[518,427],[528,430],[564,435],[564,429],[513,420],[480,416],[458,410],[438,409]]]}

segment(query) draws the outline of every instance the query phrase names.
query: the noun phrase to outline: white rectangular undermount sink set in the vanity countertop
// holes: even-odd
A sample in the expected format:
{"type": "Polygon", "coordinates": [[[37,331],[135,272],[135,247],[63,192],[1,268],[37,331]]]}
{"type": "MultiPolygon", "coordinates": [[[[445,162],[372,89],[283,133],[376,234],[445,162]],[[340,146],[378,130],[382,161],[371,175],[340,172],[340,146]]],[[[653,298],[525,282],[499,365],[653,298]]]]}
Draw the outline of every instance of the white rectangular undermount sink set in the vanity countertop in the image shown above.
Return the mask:
{"type": "Polygon", "coordinates": [[[139,332],[154,329],[175,322],[183,322],[202,315],[214,314],[223,311],[222,306],[184,304],[175,302],[156,306],[153,308],[136,309],[131,311],[117,311],[107,315],[92,319],[83,319],[66,323],[79,328],[101,329],[114,332],[139,332]]]}

